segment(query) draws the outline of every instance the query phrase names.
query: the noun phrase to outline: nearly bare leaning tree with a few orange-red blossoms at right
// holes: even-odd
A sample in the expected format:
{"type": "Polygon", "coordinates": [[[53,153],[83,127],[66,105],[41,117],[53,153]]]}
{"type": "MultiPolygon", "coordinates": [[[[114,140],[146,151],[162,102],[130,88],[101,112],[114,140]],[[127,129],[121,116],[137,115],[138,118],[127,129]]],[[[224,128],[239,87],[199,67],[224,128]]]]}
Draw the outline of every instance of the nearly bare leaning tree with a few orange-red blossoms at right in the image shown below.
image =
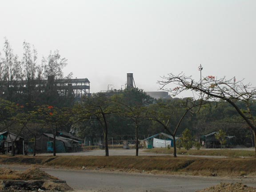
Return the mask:
{"type": "MultiPolygon", "coordinates": [[[[244,80],[236,81],[232,79],[216,79],[215,76],[207,76],[202,82],[192,79],[191,76],[185,76],[183,73],[168,76],[163,76],[162,80],[158,81],[161,89],[177,95],[185,90],[192,90],[198,93],[202,100],[218,101],[225,100],[231,104],[238,114],[246,121],[249,128],[256,136],[256,122],[253,116],[252,106],[256,104],[256,88],[252,84],[244,84],[244,80]],[[168,88],[168,85],[175,85],[175,88],[168,88]],[[245,104],[246,108],[239,105],[238,101],[245,104]]],[[[256,137],[254,137],[256,140],[256,137]]],[[[256,152],[256,146],[255,146],[256,152]]]]}

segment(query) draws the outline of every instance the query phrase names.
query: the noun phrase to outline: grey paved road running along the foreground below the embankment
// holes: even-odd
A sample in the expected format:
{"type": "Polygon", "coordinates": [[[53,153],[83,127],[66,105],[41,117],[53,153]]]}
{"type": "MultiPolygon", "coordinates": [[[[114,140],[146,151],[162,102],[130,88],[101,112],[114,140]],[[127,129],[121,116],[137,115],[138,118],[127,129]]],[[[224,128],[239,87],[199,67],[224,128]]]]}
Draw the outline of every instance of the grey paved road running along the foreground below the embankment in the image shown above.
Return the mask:
{"type": "MultiPolygon", "coordinates": [[[[8,165],[0,165],[8,167],[8,165]]],[[[11,166],[24,170],[28,167],[11,166]]],[[[242,182],[256,187],[256,179],[225,179],[218,177],[171,176],[132,174],[121,172],[100,172],[82,170],[61,170],[42,168],[52,176],[66,180],[75,190],[94,192],[195,192],[220,182],[242,182]]]]}

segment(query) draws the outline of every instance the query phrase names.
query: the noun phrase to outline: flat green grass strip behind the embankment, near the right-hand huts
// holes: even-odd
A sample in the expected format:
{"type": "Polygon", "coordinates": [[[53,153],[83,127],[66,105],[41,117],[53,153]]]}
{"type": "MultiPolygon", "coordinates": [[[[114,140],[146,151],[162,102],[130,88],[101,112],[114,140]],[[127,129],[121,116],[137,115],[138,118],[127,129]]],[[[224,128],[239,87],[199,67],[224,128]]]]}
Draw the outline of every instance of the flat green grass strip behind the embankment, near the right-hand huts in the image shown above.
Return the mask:
{"type": "MultiPolygon", "coordinates": [[[[144,152],[152,152],[152,153],[161,153],[161,154],[173,154],[173,148],[153,148],[144,150],[144,152]]],[[[200,150],[186,150],[181,148],[177,149],[178,155],[197,155],[197,156],[228,156],[228,157],[254,157],[255,151],[247,151],[247,150],[231,150],[231,149],[200,149],[200,150]]]]}

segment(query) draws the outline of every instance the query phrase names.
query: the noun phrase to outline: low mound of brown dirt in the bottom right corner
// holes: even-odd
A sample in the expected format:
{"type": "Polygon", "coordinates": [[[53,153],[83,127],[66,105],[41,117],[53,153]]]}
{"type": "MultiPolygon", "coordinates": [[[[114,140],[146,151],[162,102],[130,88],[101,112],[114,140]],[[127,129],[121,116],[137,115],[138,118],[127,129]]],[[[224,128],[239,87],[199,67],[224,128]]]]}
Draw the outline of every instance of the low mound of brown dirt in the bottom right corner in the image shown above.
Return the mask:
{"type": "Polygon", "coordinates": [[[220,183],[197,192],[256,192],[256,188],[241,183],[220,183]]]}

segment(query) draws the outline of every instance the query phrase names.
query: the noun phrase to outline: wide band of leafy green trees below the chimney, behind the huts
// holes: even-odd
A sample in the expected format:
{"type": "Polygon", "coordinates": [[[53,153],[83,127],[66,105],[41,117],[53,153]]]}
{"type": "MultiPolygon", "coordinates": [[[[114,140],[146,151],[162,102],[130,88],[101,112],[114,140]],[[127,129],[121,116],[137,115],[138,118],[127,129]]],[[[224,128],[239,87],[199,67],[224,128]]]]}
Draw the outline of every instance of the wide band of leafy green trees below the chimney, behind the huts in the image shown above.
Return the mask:
{"type": "MultiPolygon", "coordinates": [[[[175,137],[180,136],[185,128],[190,129],[194,139],[222,128],[230,135],[236,134],[241,143],[246,142],[251,133],[240,116],[228,108],[226,102],[217,104],[216,108],[212,102],[203,103],[192,98],[154,100],[138,88],[126,89],[112,97],[106,97],[104,93],[93,94],[69,108],[40,105],[26,110],[26,105],[1,100],[0,126],[2,130],[15,132],[17,136],[33,138],[35,142],[40,133],[51,132],[54,146],[57,131],[72,131],[81,137],[102,134],[106,156],[109,155],[109,135],[116,138],[119,135],[135,135],[136,156],[138,140],[143,139],[141,135],[154,135],[164,130],[174,138],[174,156],[175,137]]],[[[241,103],[241,107],[245,108],[245,105],[241,103]]]]}

